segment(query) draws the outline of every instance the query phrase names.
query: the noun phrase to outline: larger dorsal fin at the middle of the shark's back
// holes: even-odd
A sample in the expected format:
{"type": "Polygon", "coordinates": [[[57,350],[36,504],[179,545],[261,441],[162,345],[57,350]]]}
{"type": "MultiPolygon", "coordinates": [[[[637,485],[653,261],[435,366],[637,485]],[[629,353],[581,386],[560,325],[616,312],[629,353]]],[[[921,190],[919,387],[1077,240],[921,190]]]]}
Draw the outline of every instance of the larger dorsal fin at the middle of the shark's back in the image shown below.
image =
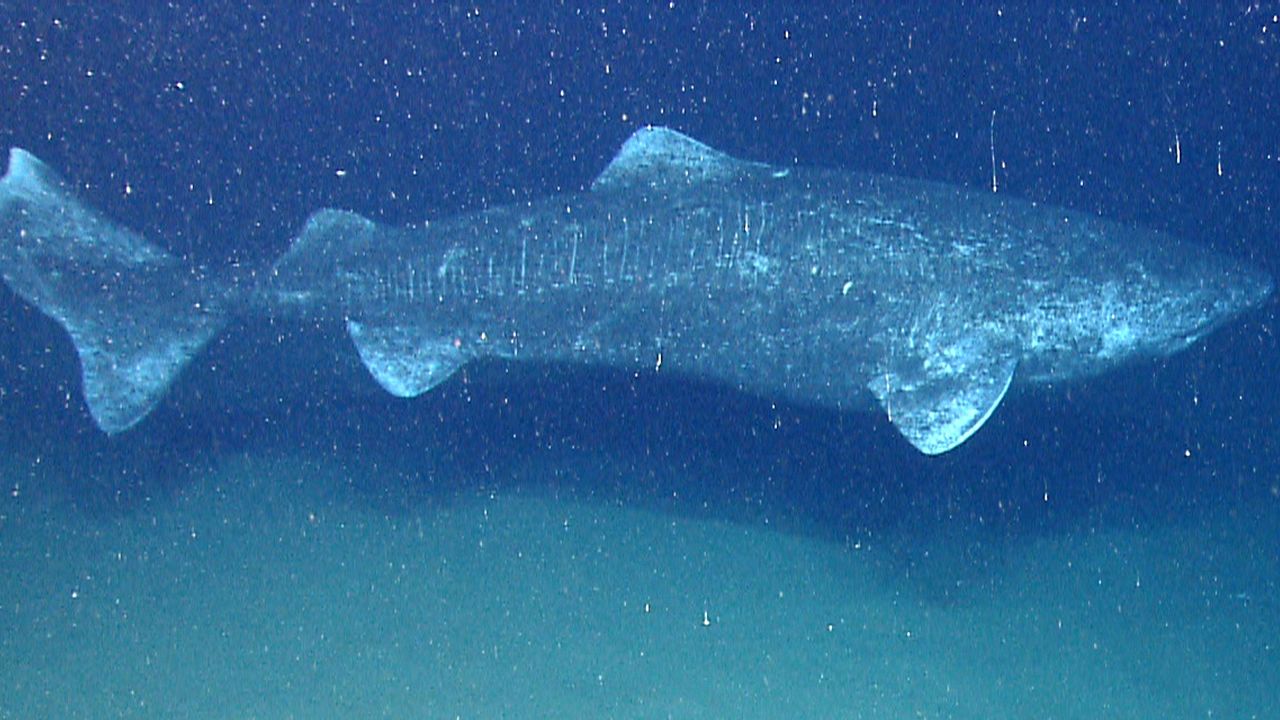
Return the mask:
{"type": "Polygon", "coordinates": [[[591,190],[657,188],[730,179],[755,165],[671,128],[646,127],[627,138],[609,167],[591,183],[591,190]]]}

